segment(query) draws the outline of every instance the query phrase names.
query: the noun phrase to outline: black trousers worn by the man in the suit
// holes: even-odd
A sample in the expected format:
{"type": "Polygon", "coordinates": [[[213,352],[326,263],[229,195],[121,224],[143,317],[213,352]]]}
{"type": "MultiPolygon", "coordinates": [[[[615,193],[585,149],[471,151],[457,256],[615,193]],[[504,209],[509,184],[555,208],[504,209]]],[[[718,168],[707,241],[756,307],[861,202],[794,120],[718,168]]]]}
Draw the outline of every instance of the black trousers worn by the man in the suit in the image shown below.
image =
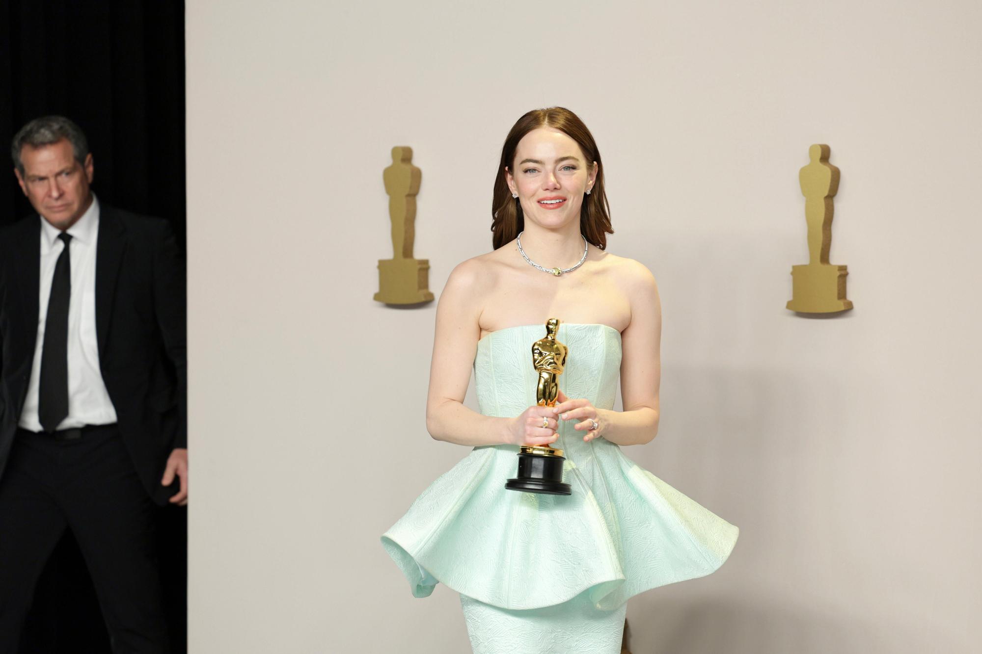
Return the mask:
{"type": "Polygon", "coordinates": [[[55,440],[19,429],[0,478],[0,652],[16,652],[37,577],[66,528],[116,654],[166,654],[154,505],[116,425],[55,440]]]}

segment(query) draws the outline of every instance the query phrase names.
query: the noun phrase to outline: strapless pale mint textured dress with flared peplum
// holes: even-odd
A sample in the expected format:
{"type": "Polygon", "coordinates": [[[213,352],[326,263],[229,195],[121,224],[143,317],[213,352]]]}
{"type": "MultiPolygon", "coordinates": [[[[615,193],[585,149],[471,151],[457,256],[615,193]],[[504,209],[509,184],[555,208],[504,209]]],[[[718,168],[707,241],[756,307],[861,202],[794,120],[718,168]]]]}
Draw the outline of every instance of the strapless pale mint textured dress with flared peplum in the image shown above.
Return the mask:
{"type": "MultiPolygon", "coordinates": [[[[535,404],[531,345],[543,325],[510,327],[477,344],[480,412],[514,417],[535,404]]],[[[570,354],[559,377],[569,398],[612,409],[621,334],[561,324],[570,354]]],[[[714,572],[738,529],[633,463],[602,437],[589,443],[560,420],[573,495],[505,488],[518,446],[474,448],[437,478],[383,536],[389,556],[425,597],[444,583],[461,594],[476,654],[620,652],[627,598],[714,572]]]]}

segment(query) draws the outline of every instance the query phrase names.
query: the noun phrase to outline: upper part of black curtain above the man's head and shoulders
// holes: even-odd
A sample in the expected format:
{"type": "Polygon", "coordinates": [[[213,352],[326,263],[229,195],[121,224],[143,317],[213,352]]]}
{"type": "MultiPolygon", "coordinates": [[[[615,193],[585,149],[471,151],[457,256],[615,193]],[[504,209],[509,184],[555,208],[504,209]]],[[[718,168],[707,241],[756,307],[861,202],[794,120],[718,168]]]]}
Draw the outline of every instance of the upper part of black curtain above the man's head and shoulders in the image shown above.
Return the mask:
{"type": "MultiPolygon", "coordinates": [[[[5,0],[3,6],[5,150],[28,120],[68,116],[88,136],[100,200],[168,218],[183,239],[184,2],[5,0]]],[[[13,173],[0,189],[0,224],[30,211],[13,173]]]]}

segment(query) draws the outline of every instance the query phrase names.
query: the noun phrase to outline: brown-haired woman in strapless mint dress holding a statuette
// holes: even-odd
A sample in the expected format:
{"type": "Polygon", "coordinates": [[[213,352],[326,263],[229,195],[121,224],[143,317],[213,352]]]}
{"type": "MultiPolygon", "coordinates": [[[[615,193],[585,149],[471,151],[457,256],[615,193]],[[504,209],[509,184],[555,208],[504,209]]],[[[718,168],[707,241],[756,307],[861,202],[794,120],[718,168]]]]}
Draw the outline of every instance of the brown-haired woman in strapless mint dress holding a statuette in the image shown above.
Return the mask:
{"type": "Polygon", "coordinates": [[[738,530],[621,452],[658,431],[661,308],[647,268],[605,251],[600,152],[573,112],[518,119],[492,208],[495,249],[440,298],[426,404],[433,438],[474,449],[382,542],[417,597],[461,594],[477,654],[617,653],[627,598],[715,571],[738,530]],[[549,318],[569,348],[555,408],[536,405],[530,355],[549,318]],[[523,444],[565,451],[572,495],[505,488],[523,444]]]}

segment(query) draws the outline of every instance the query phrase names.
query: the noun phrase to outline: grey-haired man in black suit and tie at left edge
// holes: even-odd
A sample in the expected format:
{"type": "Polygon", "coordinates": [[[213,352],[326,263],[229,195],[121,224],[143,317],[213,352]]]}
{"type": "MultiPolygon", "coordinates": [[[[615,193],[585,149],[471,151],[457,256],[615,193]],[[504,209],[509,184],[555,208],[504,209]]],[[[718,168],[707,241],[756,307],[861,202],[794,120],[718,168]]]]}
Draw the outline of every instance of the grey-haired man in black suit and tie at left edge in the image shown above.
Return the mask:
{"type": "Polygon", "coordinates": [[[72,121],[31,121],[12,155],[38,215],[0,230],[0,652],[66,528],[113,651],[166,652],[153,502],[188,501],[184,265],[166,221],[100,205],[72,121]]]}

